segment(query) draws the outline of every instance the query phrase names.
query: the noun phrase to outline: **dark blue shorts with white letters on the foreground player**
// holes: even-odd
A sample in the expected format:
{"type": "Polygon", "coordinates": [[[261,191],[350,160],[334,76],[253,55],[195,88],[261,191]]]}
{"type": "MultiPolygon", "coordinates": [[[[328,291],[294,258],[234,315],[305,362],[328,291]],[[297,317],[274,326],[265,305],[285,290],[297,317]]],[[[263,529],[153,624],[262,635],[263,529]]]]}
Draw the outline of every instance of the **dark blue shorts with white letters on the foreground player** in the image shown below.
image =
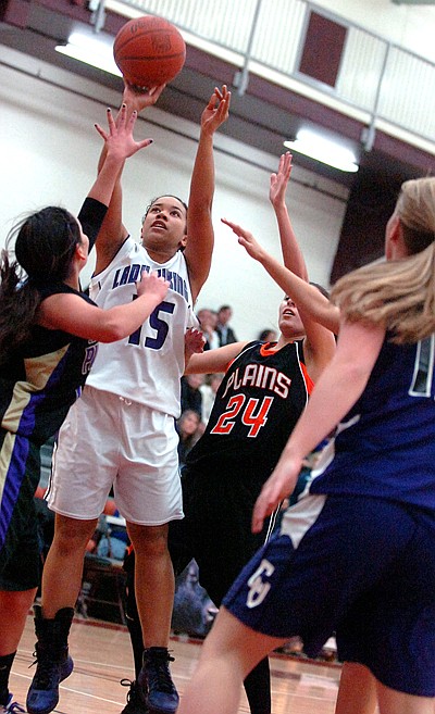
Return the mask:
{"type": "Polygon", "coordinates": [[[299,637],[310,656],[334,632],[341,661],[382,684],[435,696],[435,514],[359,496],[302,498],[223,604],[256,631],[299,637]]]}

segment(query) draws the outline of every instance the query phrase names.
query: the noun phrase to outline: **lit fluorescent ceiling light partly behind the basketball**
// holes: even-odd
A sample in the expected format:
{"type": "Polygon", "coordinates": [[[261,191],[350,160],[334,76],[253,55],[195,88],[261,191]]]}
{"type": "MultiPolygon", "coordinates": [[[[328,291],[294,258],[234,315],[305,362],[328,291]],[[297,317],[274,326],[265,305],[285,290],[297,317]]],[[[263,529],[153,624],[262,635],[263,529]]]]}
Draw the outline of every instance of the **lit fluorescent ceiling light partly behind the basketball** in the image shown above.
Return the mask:
{"type": "Polygon", "coordinates": [[[69,37],[67,45],[58,45],[55,50],[109,74],[122,76],[113,59],[113,38],[104,41],[100,33],[87,34],[74,30],[69,37]]]}

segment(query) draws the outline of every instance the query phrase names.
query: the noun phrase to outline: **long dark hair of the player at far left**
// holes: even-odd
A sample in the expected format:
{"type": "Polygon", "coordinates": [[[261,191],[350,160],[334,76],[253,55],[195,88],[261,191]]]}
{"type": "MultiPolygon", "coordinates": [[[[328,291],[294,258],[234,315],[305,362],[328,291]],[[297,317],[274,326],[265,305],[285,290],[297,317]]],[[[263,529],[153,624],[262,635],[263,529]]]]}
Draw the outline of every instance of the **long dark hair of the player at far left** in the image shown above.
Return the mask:
{"type": "Polygon", "coordinates": [[[28,339],[40,289],[66,279],[79,242],[76,218],[51,205],[25,216],[9,233],[0,262],[0,362],[28,339]]]}

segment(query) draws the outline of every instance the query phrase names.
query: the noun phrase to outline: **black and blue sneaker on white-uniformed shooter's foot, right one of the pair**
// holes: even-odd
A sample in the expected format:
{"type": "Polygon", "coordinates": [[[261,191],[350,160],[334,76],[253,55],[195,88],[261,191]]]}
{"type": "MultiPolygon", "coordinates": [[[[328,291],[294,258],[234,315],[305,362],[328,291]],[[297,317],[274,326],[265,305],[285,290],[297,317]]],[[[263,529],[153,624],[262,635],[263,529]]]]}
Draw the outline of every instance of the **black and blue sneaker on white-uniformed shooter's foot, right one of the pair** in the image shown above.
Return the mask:
{"type": "Polygon", "coordinates": [[[170,662],[174,662],[165,647],[150,647],[144,652],[144,666],[138,682],[146,692],[149,714],[174,714],[179,697],[171,679],[170,662]]]}

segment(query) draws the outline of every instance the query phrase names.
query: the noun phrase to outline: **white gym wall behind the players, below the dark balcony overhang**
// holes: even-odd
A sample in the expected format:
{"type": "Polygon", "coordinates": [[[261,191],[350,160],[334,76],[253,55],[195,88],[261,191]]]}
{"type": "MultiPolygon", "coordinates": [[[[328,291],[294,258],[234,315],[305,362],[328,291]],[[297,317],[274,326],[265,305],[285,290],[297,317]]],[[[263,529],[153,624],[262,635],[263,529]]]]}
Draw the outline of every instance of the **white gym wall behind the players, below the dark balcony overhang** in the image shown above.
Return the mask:
{"type": "MultiPolygon", "coordinates": [[[[94,123],[105,121],[107,105],[117,105],[121,85],[117,95],[1,46],[0,60],[22,70],[0,65],[1,246],[14,218],[23,212],[50,203],[65,205],[72,212],[79,210],[96,175],[101,147],[94,123]]],[[[137,137],[152,137],[154,143],[128,161],[123,179],[124,222],[133,235],[139,234],[140,217],[152,197],[170,191],[187,199],[198,136],[198,126],[174,120],[157,108],[151,108],[147,117],[148,122],[138,122],[137,137]]],[[[211,275],[198,308],[232,304],[237,336],[250,339],[263,327],[276,326],[282,291],[238,246],[220,218],[225,216],[252,230],[270,252],[279,256],[268,200],[270,173],[276,170],[278,158],[250,150],[222,135],[216,136],[215,147],[216,241],[211,275]]],[[[310,277],[326,286],[346,197],[341,186],[295,166],[289,210],[310,277]],[[318,185],[337,198],[301,186],[300,181],[318,185]]]]}

